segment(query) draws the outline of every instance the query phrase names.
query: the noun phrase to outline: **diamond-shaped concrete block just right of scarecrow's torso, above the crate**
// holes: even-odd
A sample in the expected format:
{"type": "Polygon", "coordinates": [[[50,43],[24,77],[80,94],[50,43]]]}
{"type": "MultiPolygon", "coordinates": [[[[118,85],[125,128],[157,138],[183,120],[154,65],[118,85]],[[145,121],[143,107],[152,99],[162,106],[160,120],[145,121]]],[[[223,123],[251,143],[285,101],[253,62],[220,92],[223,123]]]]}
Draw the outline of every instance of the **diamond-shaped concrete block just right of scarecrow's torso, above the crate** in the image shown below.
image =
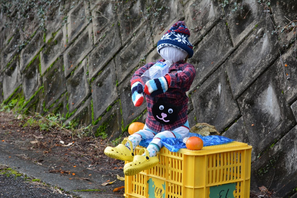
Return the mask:
{"type": "Polygon", "coordinates": [[[239,116],[233,99],[225,66],[221,66],[191,95],[196,122],[214,125],[221,133],[239,116]]]}

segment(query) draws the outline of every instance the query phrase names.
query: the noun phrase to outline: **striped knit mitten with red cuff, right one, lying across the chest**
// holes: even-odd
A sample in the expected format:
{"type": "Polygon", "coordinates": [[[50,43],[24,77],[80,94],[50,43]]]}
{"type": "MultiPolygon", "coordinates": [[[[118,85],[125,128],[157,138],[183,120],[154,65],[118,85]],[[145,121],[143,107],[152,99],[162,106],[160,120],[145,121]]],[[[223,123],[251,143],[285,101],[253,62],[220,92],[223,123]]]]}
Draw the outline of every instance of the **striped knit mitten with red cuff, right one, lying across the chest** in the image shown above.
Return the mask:
{"type": "Polygon", "coordinates": [[[144,92],[147,95],[151,95],[151,96],[165,93],[168,90],[170,82],[171,80],[169,75],[165,75],[163,77],[156,78],[156,79],[151,79],[148,82],[146,82],[146,85],[144,87],[144,92]]]}

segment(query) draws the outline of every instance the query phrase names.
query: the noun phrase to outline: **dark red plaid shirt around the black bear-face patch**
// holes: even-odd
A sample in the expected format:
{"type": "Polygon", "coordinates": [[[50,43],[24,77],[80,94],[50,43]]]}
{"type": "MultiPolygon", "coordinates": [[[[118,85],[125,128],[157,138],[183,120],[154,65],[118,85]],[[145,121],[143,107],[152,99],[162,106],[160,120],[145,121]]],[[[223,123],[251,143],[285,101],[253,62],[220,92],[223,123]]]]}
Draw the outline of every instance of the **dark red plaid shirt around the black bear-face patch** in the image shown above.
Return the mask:
{"type": "MultiPolygon", "coordinates": [[[[165,60],[162,59],[158,61],[164,62],[165,60]]],[[[139,79],[140,76],[154,64],[154,62],[147,63],[145,66],[142,66],[137,71],[135,71],[131,82],[134,79],[139,79]]],[[[164,127],[165,130],[173,130],[177,127],[181,127],[188,120],[188,97],[186,92],[190,89],[190,86],[195,78],[196,70],[194,66],[189,63],[184,63],[184,61],[181,60],[170,66],[168,74],[170,75],[171,82],[168,90],[165,93],[156,95],[154,97],[146,95],[148,110],[146,126],[155,132],[161,132],[162,127],[164,127]],[[164,101],[170,104],[182,106],[181,111],[178,113],[178,118],[173,124],[161,124],[154,118],[151,109],[153,104],[156,103],[159,98],[163,98],[164,101]]]]}

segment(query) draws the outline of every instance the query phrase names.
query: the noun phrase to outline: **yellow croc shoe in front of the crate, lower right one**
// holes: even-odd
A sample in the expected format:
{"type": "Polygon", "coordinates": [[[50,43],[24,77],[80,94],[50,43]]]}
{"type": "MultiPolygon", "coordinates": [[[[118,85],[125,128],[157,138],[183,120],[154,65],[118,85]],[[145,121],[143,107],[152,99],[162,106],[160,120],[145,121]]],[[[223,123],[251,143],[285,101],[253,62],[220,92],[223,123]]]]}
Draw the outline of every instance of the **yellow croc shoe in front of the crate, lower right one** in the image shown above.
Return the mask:
{"type": "Polygon", "coordinates": [[[151,169],[159,162],[159,157],[149,157],[149,151],[145,148],[140,149],[138,155],[135,155],[132,162],[124,165],[124,174],[127,176],[136,175],[143,170],[151,169]],[[145,156],[141,155],[146,153],[145,156]]]}

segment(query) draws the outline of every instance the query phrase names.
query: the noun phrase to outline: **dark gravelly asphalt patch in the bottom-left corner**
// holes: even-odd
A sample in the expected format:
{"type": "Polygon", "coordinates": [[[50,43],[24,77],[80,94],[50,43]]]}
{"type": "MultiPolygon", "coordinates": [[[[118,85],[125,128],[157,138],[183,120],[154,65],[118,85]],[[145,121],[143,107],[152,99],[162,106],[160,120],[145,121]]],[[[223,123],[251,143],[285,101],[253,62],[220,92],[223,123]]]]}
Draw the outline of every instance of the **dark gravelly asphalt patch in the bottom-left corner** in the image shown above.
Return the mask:
{"type": "MultiPolygon", "coordinates": [[[[3,168],[3,167],[2,167],[3,168]]],[[[10,171],[1,170],[0,166],[0,197],[1,198],[70,198],[72,196],[60,194],[50,186],[41,182],[33,182],[23,175],[16,176],[10,171]]]]}

